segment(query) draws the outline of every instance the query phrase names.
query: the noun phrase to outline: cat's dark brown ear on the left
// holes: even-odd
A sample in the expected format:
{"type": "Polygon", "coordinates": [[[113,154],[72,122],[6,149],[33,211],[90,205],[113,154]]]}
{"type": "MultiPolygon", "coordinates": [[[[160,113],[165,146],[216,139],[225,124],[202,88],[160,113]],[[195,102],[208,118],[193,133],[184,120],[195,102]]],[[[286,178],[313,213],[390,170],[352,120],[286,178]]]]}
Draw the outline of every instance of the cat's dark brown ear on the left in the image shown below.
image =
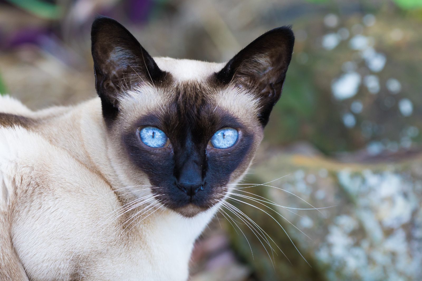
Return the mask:
{"type": "Polygon", "coordinates": [[[118,98],[125,91],[142,83],[154,84],[165,77],[165,72],[158,68],[138,40],[114,19],[95,19],[91,42],[95,88],[106,120],[118,113],[118,98]]]}

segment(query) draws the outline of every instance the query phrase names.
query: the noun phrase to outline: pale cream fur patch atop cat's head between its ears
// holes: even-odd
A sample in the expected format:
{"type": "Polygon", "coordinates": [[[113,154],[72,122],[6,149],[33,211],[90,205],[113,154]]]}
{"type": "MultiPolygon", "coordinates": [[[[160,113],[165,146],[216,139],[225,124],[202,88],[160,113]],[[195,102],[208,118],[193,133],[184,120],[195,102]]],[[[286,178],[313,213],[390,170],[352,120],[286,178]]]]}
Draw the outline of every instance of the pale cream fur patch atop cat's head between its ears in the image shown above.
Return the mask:
{"type": "Polygon", "coordinates": [[[212,63],[189,59],[154,58],[158,67],[171,74],[178,82],[204,81],[224,67],[224,63],[212,63]]]}

